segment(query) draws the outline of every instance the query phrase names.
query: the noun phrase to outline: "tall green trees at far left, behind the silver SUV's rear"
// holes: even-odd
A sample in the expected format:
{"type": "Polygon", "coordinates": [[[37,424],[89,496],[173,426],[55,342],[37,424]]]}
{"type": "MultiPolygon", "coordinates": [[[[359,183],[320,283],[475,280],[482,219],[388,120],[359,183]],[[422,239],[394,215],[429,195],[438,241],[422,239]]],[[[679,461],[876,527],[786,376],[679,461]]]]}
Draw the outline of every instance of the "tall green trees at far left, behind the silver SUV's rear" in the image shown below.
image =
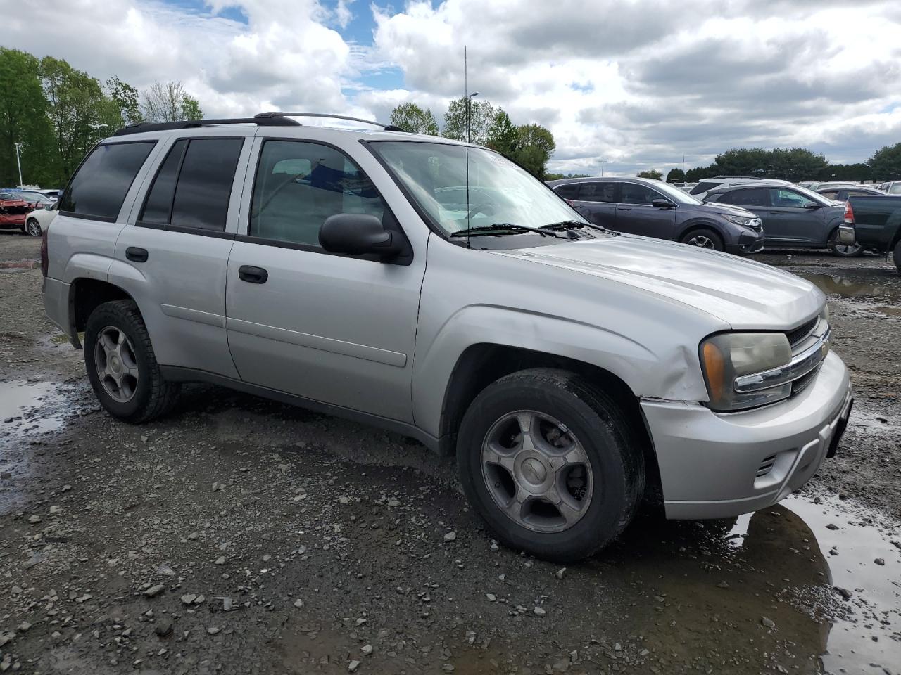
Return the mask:
{"type": "Polygon", "coordinates": [[[199,120],[200,103],[180,82],[138,89],[101,83],[65,59],[0,47],[0,186],[62,186],[94,144],[137,121],[199,120]]]}

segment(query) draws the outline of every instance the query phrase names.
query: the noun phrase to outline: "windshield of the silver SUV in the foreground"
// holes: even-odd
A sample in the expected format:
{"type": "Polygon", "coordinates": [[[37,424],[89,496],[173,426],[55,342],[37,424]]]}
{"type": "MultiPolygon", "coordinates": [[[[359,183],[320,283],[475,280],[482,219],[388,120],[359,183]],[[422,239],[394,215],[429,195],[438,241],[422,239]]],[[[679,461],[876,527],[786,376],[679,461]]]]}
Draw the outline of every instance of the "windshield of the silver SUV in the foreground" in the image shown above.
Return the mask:
{"type": "Polygon", "coordinates": [[[556,194],[503,156],[450,143],[372,141],[379,157],[445,234],[506,223],[541,228],[565,220],[586,222],[556,194]]]}

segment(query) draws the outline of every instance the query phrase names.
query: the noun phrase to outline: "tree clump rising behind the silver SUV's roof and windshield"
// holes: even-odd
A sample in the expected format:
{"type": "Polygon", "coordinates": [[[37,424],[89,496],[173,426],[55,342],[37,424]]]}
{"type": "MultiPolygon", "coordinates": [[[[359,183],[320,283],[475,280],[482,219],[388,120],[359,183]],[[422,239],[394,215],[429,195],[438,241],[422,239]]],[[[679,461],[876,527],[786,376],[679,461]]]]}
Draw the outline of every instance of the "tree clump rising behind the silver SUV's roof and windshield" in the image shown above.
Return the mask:
{"type": "Polygon", "coordinates": [[[541,124],[515,125],[503,108],[465,96],[451,101],[443,121],[443,129],[439,130],[432,111],[416,103],[401,103],[391,111],[391,123],[403,130],[446,139],[469,139],[514,160],[537,178],[551,177],[547,173],[548,160],[557,144],[551,131],[541,124]]]}

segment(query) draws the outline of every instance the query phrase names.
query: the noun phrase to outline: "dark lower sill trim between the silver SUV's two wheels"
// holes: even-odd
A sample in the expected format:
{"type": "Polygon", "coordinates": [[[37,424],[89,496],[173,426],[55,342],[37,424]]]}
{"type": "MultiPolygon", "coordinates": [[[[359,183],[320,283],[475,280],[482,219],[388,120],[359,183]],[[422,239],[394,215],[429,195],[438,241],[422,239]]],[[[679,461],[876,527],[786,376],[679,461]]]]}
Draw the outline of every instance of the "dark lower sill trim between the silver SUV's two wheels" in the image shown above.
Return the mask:
{"type": "Polygon", "coordinates": [[[163,378],[169,382],[205,382],[218,384],[222,387],[254,394],[255,396],[271,399],[272,401],[279,401],[308,410],[322,412],[326,415],[352,419],[353,421],[361,422],[363,424],[384,428],[402,436],[415,438],[430,450],[438,450],[438,438],[433,437],[431,434],[426,433],[423,429],[418,428],[413,424],[402,422],[398,419],[384,418],[369,412],[362,412],[360,410],[333,405],[332,403],[307,399],[303,396],[297,396],[296,394],[281,392],[277,389],[269,389],[268,387],[259,384],[235,380],[231,377],[225,377],[224,375],[210,373],[208,371],[196,370],[195,368],[186,368],[180,365],[160,365],[159,370],[163,378]]]}

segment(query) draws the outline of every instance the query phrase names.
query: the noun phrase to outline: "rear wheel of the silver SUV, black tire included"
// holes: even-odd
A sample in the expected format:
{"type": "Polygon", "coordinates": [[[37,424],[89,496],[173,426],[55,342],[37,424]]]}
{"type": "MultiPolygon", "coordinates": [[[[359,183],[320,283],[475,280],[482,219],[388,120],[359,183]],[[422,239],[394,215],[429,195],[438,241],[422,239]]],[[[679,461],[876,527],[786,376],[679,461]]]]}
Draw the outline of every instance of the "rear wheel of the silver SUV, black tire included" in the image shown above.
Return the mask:
{"type": "Polygon", "coordinates": [[[126,422],[158,418],[177,402],[180,387],[160,374],[147,327],[131,300],[104,302],[91,312],[85,328],[85,366],[97,400],[126,422]]]}

